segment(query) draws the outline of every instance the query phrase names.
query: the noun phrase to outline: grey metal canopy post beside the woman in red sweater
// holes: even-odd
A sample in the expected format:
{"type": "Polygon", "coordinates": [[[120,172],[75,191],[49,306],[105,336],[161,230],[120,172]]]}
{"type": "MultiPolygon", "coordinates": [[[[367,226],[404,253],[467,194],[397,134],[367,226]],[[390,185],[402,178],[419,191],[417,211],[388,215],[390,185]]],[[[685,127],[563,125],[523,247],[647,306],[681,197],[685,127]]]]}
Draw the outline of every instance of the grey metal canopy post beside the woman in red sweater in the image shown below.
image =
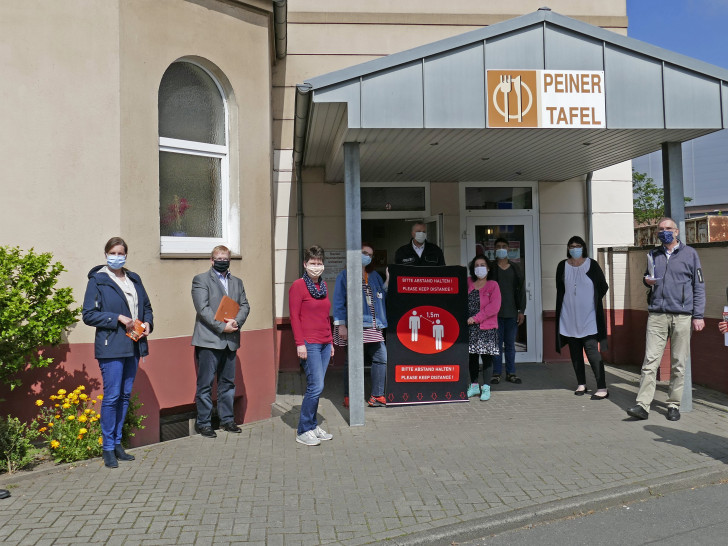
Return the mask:
{"type": "Polygon", "coordinates": [[[346,320],[349,330],[349,426],[364,425],[364,339],[361,291],[359,143],[344,143],[346,203],[346,320]]]}

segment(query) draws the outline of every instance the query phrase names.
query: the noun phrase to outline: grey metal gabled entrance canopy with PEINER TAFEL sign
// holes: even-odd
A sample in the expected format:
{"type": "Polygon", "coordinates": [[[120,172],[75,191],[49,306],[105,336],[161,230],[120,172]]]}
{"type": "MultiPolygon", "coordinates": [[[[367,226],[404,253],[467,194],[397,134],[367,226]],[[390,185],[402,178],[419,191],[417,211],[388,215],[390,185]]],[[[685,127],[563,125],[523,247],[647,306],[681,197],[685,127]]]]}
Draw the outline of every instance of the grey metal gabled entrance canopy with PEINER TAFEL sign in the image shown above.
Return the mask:
{"type": "Polygon", "coordinates": [[[728,127],[728,70],[548,9],[297,86],[294,163],[344,180],[565,180],[728,127]]]}

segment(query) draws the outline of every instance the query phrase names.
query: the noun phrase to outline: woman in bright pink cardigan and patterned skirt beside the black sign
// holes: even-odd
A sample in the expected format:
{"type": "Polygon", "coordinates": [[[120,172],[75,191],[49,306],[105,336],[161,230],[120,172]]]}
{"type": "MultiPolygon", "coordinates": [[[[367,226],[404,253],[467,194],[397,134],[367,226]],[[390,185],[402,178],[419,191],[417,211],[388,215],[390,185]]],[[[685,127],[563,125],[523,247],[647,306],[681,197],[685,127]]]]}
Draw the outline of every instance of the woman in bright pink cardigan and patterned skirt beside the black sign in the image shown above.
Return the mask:
{"type": "Polygon", "coordinates": [[[480,394],[480,399],[490,399],[490,385],[487,380],[481,387],[479,359],[483,361],[483,378],[487,378],[488,367],[493,355],[500,354],[498,348],[498,311],[500,310],[500,288],[495,281],[487,280],[488,260],[478,254],[470,262],[468,277],[468,352],[470,353],[470,387],[468,398],[480,394]]]}

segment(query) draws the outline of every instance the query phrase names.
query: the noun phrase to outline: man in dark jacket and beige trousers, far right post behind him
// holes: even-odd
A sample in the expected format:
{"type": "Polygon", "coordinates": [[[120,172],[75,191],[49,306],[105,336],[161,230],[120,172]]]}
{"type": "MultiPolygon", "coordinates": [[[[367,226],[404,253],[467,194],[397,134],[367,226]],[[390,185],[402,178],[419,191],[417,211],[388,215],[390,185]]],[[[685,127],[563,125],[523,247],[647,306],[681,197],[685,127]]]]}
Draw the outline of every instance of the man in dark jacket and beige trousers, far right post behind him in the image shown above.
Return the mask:
{"type": "Polygon", "coordinates": [[[681,243],[672,218],[657,224],[662,246],[647,256],[644,283],[650,288],[647,310],[645,359],[642,363],[637,405],[627,410],[631,417],[647,419],[655,396],[655,380],[662,353],[670,340],[670,389],[667,419],[680,419],[680,401],[685,381],[685,360],[690,354],[691,328],[705,327],[705,282],[700,258],[694,249],[681,243]]]}

